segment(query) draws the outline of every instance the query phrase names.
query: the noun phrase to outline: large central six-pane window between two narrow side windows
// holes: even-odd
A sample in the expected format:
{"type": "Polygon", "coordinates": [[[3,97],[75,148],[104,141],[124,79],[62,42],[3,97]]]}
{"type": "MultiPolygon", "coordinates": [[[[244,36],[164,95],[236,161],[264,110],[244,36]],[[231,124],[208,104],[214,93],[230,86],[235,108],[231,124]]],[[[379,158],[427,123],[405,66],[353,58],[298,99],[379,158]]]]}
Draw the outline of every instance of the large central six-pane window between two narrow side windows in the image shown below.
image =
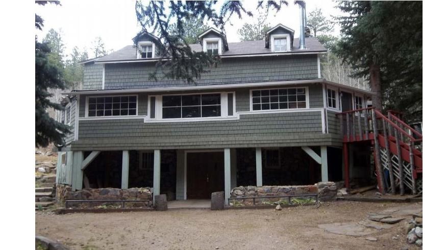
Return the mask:
{"type": "Polygon", "coordinates": [[[220,94],[163,96],[163,119],[221,116],[220,94]]]}

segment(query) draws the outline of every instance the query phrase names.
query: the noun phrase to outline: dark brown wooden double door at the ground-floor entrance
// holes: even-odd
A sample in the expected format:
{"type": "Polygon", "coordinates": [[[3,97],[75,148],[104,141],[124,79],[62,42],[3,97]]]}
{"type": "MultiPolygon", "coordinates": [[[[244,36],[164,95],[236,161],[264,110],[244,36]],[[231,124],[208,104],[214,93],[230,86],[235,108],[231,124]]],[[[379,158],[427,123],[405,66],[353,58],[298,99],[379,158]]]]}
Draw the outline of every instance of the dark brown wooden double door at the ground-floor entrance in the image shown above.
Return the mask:
{"type": "Polygon", "coordinates": [[[186,199],[211,199],[225,190],[223,151],[186,152],[186,199]]]}

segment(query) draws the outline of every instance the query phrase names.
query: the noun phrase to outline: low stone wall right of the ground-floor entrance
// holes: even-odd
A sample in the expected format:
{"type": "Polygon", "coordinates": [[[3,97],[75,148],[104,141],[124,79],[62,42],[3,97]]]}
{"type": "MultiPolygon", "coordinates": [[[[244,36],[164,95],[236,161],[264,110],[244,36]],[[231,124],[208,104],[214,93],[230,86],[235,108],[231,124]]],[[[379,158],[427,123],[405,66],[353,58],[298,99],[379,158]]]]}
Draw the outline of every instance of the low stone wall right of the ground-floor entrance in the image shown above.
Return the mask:
{"type": "MultiPolygon", "coordinates": [[[[295,196],[309,195],[317,193],[319,201],[330,201],[336,198],[337,187],[334,182],[319,182],[314,185],[303,186],[239,186],[231,190],[231,198],[242,197],[258,197],[261,200],[265,196],[295,196]]],[[[311,197],[308,197],[311,198],[311,197]]],[[[292,197],[291,197],[292,199],[292,197]]],[[[266,199],[264,199],[266,200],[266,199]]],[[[263,201],[264,201],[263,200],[263,201]]],[[[279,200],[287,201],[288,198],[269,198],[267,201],[276,202],[279,200]]],[[[253,206],[252,199],[237,200],[244,206],[253,206]]],[[[259,205],[262,201],[256,201],[255,205],[259,205]]]]}

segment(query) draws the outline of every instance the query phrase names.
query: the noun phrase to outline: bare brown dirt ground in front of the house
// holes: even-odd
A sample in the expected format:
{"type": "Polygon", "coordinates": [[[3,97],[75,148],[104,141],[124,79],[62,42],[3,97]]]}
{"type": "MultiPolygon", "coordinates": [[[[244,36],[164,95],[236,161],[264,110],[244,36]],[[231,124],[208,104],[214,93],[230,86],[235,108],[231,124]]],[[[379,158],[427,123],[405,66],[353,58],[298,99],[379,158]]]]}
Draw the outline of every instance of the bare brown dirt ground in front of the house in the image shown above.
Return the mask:
{"type": "Polygon", "coordinates": [[[407,206],[421,208],[422,203],[333,202],[282,211],[36,212],[36,235],[73,249],[418,249],[406,243],[404,221],[360,237],[329,233],[317,226],[359,222],[367,213],[407,206]],[[365,239],[370,236],[378,241],[365,239]]]}

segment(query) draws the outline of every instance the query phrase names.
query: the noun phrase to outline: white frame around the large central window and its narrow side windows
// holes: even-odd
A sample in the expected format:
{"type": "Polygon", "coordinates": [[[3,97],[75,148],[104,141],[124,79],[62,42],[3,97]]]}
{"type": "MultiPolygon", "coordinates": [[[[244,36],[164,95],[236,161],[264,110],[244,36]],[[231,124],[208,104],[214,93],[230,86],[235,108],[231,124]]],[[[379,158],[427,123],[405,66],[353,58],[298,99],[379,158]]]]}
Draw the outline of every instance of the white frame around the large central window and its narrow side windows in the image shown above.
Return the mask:
{"type": "Polygon", "coordinates": [[[181,93],[181,94],[164,94],[164,95],[148,95],[147,96],[147,116],[144,118],[145,123],[159,122],[196,122],[196,121],[223,121],[239,119],[235,108],[235,92],[204,92],[204,93],[181,93]],[[228,94],[231,93],[232,98],[232,116],[228,115],[228,94]],[[206,95],[220,94],[220,115],[217,117],[190,117],[190,118],[163,118],[163,96],[185,96],[185,95],[206,95]],[[155,97],[155,118],[150,118],[151,97],[155,97]]]}

